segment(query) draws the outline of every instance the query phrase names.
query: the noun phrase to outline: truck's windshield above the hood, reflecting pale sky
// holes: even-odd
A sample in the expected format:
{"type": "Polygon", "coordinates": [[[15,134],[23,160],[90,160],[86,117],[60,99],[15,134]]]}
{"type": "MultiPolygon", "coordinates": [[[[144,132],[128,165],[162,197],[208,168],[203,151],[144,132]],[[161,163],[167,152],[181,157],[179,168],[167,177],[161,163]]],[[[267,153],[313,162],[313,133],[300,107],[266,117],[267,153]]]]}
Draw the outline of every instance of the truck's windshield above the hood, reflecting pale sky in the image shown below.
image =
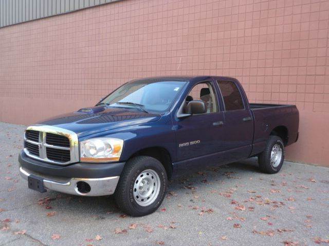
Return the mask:
{"type": "Polygon", "coordinates": [[[145,112],[165,112],[186,83],[175,80],[135,80],[118,88],[99,104],[133,107],[145,112]]]}

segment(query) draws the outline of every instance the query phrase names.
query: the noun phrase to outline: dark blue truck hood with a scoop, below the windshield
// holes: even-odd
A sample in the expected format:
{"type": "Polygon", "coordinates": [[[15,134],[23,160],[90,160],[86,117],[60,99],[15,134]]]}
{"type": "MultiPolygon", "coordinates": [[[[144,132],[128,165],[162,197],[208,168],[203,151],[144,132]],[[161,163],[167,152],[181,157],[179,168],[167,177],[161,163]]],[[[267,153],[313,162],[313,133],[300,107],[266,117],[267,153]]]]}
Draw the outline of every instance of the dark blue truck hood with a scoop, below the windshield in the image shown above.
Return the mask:
{"type": "Polygon", "coordinates": [[[78,137],[139,125],[160,119],[159,114],[148,114],[138,109],[91,107],[40,121],[38,125],[64,128],[77,133],[78,137]]]}

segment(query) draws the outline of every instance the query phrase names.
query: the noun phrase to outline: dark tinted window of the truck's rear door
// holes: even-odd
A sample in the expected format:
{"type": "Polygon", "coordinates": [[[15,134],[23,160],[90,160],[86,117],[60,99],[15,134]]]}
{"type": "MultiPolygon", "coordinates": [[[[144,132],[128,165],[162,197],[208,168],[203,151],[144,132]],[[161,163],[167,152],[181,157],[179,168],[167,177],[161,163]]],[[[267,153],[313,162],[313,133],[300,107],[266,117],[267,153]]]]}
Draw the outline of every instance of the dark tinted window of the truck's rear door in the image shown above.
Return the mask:
{"type": "Polygon", "coordinates": [[[219,80],[217,83],[222,92],[226,111],[243,110],[245,108],[241,93],[235,83],[225,80],[219,80]]]}

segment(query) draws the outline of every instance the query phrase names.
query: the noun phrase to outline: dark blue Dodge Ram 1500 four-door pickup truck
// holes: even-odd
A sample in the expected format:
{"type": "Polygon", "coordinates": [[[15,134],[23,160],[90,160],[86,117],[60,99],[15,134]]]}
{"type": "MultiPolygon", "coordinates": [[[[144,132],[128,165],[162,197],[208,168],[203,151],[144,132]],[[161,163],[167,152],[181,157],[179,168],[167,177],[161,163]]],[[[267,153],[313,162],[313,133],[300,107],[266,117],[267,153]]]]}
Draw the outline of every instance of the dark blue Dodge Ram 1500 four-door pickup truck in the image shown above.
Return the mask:
{"type": "Polygon", "coordinates": [[[29,126],[19,155],[30,189],[114,194],[127,214],[154,212],[168,178],[257,156],[277,173],[298,139],[293,105],[249,104],[231,77],[132,80],[90,108],[29,126]]]}

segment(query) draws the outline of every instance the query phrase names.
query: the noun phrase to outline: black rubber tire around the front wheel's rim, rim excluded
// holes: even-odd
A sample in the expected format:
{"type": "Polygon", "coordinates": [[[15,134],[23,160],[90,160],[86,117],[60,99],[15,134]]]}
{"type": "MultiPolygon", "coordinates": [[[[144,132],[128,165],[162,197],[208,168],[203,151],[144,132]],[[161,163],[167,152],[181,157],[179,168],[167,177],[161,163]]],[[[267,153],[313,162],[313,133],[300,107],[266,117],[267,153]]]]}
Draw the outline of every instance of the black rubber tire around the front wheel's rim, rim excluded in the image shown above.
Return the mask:
{"type": "MultiPolygon", "coordinates": [[[[153,176],[152,176],[153,178],[153,176]]],[[[131,216],[144,216],[153,213],[161,205],[165,198],[168,186],[168,178],[165,168],[157,159],[149,156],[133,157],[126,162],[120,175],[117,189],[114,194],[117,206],[131,216]],[[134,197],[134,185],[138,175],[145,170],[156,172],[160,180],[159,193],[148,206],[140,206],[134,197]]]]}

